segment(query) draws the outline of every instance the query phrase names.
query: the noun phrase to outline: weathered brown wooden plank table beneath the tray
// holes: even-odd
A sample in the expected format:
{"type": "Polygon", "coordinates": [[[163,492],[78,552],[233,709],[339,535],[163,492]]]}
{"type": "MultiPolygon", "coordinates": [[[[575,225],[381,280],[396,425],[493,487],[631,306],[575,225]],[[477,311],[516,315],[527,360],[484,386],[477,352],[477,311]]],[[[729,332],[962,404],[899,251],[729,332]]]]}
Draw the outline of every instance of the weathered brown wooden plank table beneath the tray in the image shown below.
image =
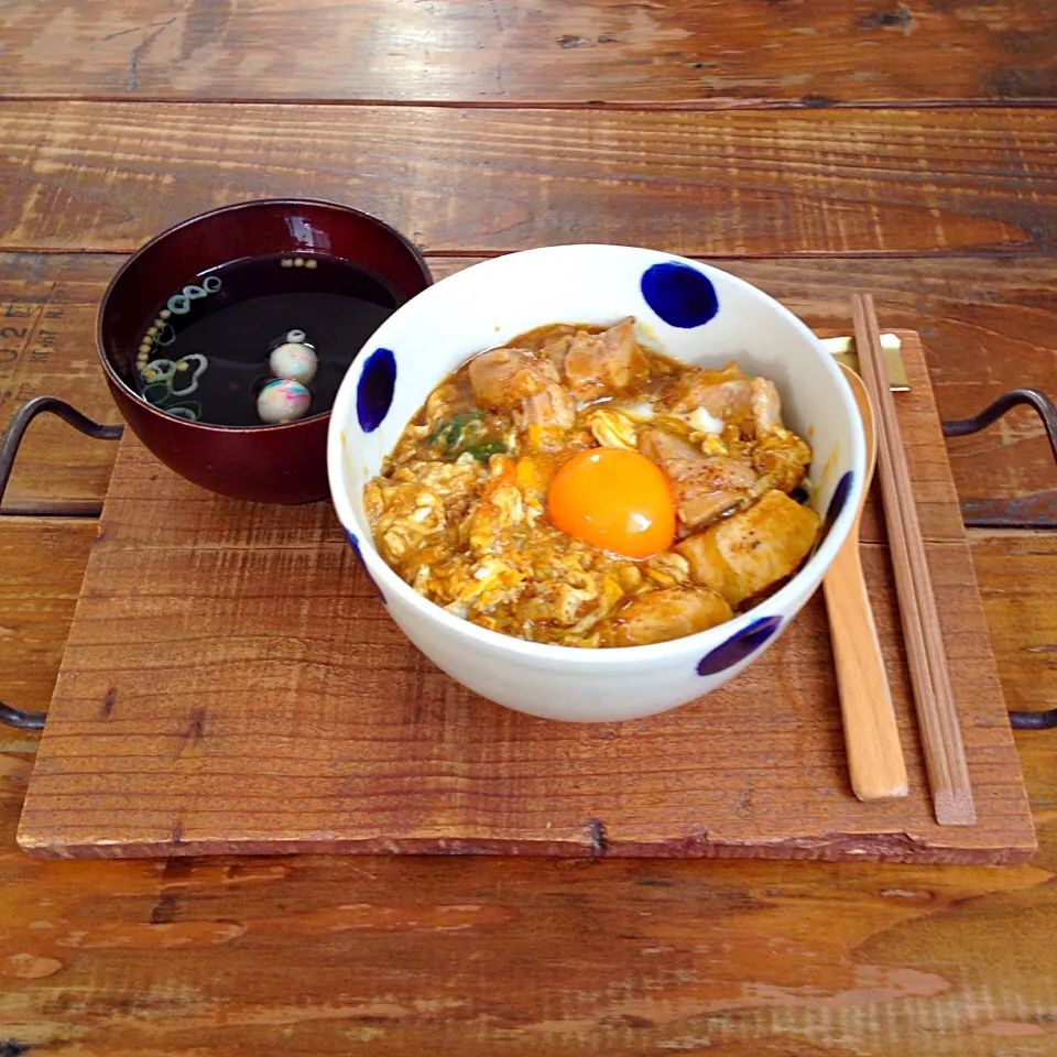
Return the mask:
{"type": "MultiPolygon", "coordinates": [[[[375,210],[444,272],[549,242],[707,257],[810,324],[874,292],[942,414],[1057,393],[1051,0],[0,0],[0,418],[115,421],[122,255],[272,194],[375,210]]],[[[1053,707],[1057,473],[952,442],[1010,707],[1053,707]]],[[[0,697],[45,708],[113,453],[32,427],[0,519],[0,697]]],[[[39,862],[0,728],[0,1054],[1057,1054],[1057,769],[1028,865],[39,862]]]]}

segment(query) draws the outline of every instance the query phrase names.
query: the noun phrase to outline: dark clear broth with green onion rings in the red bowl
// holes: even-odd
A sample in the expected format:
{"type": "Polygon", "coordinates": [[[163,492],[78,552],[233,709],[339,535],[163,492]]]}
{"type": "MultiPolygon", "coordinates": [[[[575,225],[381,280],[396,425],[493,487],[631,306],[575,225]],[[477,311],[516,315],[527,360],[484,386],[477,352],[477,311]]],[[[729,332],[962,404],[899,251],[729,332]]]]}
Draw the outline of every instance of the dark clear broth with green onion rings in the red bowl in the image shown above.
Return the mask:
{"type": "Polygon", "coordinates": [[[405,299],[380,275],[336,257],[231,261],[196,275],[144,324],[132,350],[137,384],[146,401],[183,418],[261,425],[257,395],[273,377],[269,355],[302,330],[318,358],[305,417],[323,414],[360,347],[405,299]]]}

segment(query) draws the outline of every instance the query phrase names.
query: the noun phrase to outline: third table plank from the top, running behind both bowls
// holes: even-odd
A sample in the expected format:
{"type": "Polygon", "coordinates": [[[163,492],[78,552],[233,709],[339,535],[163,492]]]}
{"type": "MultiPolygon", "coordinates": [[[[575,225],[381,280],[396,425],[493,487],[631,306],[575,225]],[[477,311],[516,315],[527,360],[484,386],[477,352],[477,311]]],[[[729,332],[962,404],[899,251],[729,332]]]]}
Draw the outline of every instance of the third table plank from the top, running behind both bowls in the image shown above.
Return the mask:
{"type": "MultiPolygon", "coordinates": [[[[50,334],[47,346],[32,337],[15,344],[13,360],[0,353],[0,396],[12,394],[0,404],[0,427],[22,399],[39,393],[64,396],[99,421],[118,421],[96,360],[94,322],[120,260],[109,254],[0,254],[0,324],[28,327],[31,336],[37,327],[50,334]],[[6,318],[6,312],[12,315],[6,318]],[[50,315],[55,312],[61,315],[50,315]]],[[[437,277],[467,263],[429,259],[437,277]]],[[[972,414],[1018,385],[1057,396],[1057,263],[1051,259],[713,263],[766,290],[824,333],[847,333],[851,293],[873,291],[883,326],[923,334],[946,417],[972,414]]],[[[967,516],[989,513],[1011,524],[1057,525],[1057,469],[1033,415],[1014,412],[1002,425],[952,439],[948,448],[967,516]]],[[[113,453],[113,445],[88,442],[62,423],[34,423],[3,509],[101,504],[113,453]]]]}

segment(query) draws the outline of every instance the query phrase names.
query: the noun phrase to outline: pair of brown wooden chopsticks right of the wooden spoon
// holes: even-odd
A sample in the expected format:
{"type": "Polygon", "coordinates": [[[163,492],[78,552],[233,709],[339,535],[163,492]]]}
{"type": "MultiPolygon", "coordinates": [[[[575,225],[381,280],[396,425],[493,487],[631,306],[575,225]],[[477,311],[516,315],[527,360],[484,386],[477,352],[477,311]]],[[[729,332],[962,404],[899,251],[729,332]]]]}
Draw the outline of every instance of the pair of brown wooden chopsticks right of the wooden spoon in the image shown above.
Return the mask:
{"type": "Polygon", "coordinates": [[[885,373],[873,297],[856,294],[852,314],[859,366],[876,411],[878,467],[884,521],[889,530],[903,639],[914,684],[914,702],[936,821],[941,826],[971,826],[977,820],[977,814],[958,721],[958,706],[950,684],[947,651],[939,629],[936,595],[917,520],[911,472],[885,373]]]}

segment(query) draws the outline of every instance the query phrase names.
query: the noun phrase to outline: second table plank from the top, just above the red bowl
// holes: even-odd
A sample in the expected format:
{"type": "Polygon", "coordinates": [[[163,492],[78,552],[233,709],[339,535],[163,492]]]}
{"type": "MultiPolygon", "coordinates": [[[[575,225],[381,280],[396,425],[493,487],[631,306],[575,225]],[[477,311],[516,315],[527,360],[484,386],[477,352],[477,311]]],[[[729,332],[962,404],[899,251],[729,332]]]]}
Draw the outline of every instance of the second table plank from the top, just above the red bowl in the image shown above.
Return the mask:
{"type": "Polygon", "coordinates": [[[0,249],[134,249],[233,199],[338,198],[435,254],[1057,246],[1057,110],[568,111],[8,102],[0,249]]]}

